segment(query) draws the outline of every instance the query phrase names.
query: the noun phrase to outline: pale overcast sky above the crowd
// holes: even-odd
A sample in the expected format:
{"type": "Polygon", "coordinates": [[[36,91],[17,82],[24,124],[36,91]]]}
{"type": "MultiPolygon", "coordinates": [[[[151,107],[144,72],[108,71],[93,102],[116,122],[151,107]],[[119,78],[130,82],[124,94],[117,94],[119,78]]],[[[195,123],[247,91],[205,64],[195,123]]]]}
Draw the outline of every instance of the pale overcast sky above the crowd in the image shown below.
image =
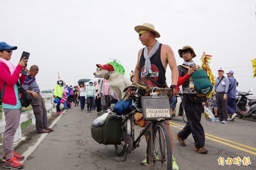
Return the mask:
{"type": "MultiPolygon", "coordinates": [[[[39,66],[36,76],[42,90],[53,89],[58,78],[74,85],[80,78],[94,78],[96,63],[119,60],[130,77],[143,45],[134,26],[152,23],[183,63],[178,49],[194,48],[195,63],[205,51],[212,55],[210,67],[233,70],[242,91],[253,87],[256,78],[250,60],[256,58],[255,0],[2,0],[1,35],[18,49],[30,52],[28,67],[39,66]],[[77,76],[77,77],[76,77],[77,76]]],[[[167,83],[171,71],[167,67],[167,83]]]]}

